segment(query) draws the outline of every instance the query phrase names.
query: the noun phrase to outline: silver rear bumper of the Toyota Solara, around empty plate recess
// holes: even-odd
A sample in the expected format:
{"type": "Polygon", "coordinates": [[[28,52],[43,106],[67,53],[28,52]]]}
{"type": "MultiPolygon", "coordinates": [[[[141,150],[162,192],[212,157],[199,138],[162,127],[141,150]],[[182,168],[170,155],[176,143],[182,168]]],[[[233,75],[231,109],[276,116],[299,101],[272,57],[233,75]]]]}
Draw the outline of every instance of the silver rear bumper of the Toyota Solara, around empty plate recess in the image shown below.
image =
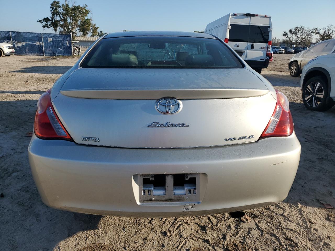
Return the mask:
{"type": "Polygon", "coordinates": [[[41,198],[51,207],[98,215],[177,217],[282,201],[297,171],[300,144],[293,133],[225,147],[125,149],[33,135],[28,155],[41,198]],[[139,203],[133,175],[151,173],[205,173],[201,203],[139,203]]]}

